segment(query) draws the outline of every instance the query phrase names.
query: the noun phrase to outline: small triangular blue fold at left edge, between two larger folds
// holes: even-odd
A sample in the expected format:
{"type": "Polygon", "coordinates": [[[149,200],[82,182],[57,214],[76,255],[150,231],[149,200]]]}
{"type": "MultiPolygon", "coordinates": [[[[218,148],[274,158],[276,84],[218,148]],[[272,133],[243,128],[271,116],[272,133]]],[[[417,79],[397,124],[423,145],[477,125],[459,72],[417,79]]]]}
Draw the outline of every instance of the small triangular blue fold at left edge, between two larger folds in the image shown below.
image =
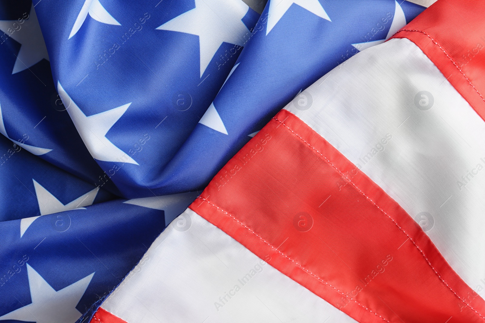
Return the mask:
{"type": "Polygon", "coordinates": [[[24,148],[25,144],[0,136],[0,221],[48,215],[116,198],[24,148]]]}

